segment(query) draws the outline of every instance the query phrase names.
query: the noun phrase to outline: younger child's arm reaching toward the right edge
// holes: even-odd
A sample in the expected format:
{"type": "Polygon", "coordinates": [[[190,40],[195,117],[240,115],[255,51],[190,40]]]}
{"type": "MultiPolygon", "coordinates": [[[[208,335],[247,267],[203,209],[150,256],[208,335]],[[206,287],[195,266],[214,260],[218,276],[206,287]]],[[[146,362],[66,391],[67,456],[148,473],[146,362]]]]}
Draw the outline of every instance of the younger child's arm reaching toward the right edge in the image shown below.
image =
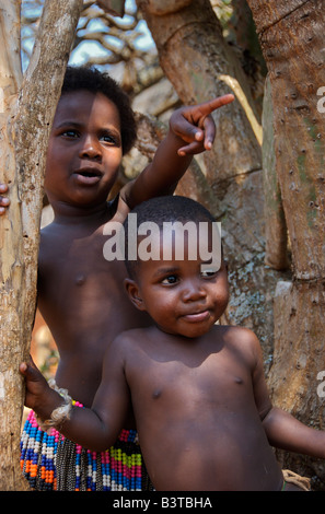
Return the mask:
{"type": "Polygon", "coordinates": [[[306,427],[289,412],[271,405],[265,381],[262,350],[254,335],[252,348],[256,359],[253,372],[255,401],[270,445],[288,452],[325,458],[325,432],[306,427]]]}

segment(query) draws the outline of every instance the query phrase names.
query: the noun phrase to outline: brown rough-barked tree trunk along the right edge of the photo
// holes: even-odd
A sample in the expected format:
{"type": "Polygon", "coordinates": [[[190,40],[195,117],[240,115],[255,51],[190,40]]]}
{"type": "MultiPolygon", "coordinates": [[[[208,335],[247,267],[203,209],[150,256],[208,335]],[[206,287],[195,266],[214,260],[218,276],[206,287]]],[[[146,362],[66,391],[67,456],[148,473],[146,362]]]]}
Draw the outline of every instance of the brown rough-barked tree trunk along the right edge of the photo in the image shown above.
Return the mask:
{"type": "MultiPolygon", "coordinates": [[[[269,70],[276,168],[293,262],[292,283],[280,283],[276,296],[269,384],[277,405],[324,430],[324,399],[317,395],[317,375],[325,370],[325,130],[317,109],[317,90],[325,84],[324,1],[248,3],[269,70]]],[[[323,464],[282,458],[324,482],[323,464]]]]}

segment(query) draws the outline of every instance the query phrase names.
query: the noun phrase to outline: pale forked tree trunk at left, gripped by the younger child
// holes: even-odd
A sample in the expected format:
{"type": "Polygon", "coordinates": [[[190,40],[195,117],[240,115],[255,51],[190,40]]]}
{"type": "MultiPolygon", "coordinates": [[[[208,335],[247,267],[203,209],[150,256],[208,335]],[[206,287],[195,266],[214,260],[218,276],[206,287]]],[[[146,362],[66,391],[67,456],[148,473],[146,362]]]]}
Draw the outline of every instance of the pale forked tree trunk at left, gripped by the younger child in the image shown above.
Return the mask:
{"type": "Polygon", "coordinates": [[[20,2],[0,9],[1,182],[11,206],[0,220],[0,490],[26,488],[20,471],[23,381],[36,303],[39,220],[48,135],[82,0],[47,0],[20,93],[20,2]]]}

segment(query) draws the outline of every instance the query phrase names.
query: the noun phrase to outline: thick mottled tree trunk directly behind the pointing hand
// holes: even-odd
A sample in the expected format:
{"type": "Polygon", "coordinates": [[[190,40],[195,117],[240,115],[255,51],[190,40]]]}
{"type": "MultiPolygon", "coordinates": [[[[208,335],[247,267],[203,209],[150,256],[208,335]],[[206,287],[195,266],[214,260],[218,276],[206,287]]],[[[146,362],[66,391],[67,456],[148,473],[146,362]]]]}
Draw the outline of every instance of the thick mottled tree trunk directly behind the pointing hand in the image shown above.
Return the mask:
{"type": "MultiPolygon", "coordinates": [[[[231,283],[225,322],[254,329],[268,360],[272,352],[272,295],[281,276],[264,264],[262,127],[246,78],[209,0],[175,2],[174,12],[171,2],[137,3],[156,44],[161,66],[184,104],[229,92],[236,97],[214,113],[213,150],[198,160],[211,194],[207,196],[205,187],[196,199],[222,223],[231,283]]],[[[185,175],[177,191],[193,196],[191,183],[193,175],[185,175]]]]}

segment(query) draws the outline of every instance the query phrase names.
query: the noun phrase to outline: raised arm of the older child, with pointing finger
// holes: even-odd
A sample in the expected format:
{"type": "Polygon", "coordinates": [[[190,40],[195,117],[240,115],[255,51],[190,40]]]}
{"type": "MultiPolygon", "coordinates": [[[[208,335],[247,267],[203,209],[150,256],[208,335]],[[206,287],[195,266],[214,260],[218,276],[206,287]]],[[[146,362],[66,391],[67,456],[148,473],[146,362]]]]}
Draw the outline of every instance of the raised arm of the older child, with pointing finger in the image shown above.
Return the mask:
{"type": "Polygon", "coordinates": [[[173,113],[169,132],[152,162],[121,191],[121,197],[130,209],[149,198],[174,191],[193,155],[212,148],[216,126],[211,113],[233,100],[232,94],[227,94],[173,113]]]}

